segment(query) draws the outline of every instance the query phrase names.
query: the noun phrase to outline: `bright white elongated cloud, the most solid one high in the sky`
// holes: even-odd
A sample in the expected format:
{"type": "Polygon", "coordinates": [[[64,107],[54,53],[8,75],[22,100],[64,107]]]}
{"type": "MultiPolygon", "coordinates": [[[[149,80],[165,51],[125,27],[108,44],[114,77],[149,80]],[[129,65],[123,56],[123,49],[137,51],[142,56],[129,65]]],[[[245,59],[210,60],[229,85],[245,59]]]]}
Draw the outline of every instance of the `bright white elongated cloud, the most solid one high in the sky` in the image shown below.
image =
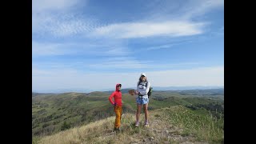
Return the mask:
{"type": "Polygon", "coordinates": [[[144,38],[152,36],[187,36],[202,34],[203,22],[127,22],[102,26],[93,35],[110,38],[144,38]]]}

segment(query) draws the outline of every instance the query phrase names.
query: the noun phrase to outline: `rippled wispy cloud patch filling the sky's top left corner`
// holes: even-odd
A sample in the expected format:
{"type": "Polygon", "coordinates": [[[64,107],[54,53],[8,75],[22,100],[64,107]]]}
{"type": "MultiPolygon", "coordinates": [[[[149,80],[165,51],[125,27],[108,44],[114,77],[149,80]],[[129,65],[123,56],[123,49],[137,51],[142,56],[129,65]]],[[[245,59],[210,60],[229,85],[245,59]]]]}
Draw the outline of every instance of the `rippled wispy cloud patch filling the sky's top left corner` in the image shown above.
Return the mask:
{"type": "Polygon", "coordinates": [[[46,0],[35,1],[32,6],[32,33],[55,37],[70,36],[94,29],[95,20],[76,14],[75,9],[86,1],[46,0]]]}

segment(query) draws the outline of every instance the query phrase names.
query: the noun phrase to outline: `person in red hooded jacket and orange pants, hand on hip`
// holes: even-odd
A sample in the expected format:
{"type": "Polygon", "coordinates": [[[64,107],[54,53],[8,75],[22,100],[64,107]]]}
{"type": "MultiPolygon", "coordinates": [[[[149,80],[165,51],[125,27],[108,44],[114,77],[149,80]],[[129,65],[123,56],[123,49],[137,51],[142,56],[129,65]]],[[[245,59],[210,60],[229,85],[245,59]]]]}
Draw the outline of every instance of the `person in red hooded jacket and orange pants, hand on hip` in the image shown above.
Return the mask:
{"type": "Polygon", "coordinates": [[[114,130],[120,131],[121,126],[121,117],[122,117],[122,85],[118,83],[115,86],[115,91],[110,95],[109,100],[110,103],[114,106],[114,112],[116,114],[115,122],[114,122],[114,130]],[[114,97],[114,102],[112,98],[114,97]]]}

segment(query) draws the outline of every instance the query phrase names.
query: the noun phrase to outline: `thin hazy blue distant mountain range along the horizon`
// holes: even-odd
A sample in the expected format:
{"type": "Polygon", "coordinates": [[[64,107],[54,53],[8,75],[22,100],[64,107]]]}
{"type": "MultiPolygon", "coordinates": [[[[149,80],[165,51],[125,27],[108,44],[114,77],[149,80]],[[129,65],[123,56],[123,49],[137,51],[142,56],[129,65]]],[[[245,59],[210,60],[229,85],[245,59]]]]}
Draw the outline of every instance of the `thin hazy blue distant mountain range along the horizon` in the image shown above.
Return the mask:
{"type": "MultiPolygon", "coordinates": [[[[224,86],[152,86],[153,90],[208,90],[208,89],[224,89],[224,86]]],[[[123,93],[134,88],[124,88],[122,89],[123,93]]],[[[93,91],[105,91],[113,92],[114,89],[101,89],[101,90],[82,90],[82,89],[58,89],[58,90],[33,90],[33,93],[66,93],[66,92],[78,92],[78,93],[90,93],[93,91]]]]}

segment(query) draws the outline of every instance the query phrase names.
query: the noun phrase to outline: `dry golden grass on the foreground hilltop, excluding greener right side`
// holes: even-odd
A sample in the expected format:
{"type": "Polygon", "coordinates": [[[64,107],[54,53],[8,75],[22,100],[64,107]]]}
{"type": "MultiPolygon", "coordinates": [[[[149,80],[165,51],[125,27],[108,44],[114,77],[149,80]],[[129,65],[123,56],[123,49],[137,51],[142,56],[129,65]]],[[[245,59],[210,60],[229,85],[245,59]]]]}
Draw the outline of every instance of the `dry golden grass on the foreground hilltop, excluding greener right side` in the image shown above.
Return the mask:
{"type": "Polygon", "coordinates": [[[170,107],[150,112],[150,127],[144,124],[144,114],[140,117],[140,126],[134,127],[135,114],[123,114],[121,132],[114,132],[114,117],[86,126],[75,127],[58,134],[46,136],[38,141],[40,144],[86,144],[86,143],[207,143],[197,142],[193,134],[184,134],[182,125],[174,126],[166,115],[170,107]]]}

